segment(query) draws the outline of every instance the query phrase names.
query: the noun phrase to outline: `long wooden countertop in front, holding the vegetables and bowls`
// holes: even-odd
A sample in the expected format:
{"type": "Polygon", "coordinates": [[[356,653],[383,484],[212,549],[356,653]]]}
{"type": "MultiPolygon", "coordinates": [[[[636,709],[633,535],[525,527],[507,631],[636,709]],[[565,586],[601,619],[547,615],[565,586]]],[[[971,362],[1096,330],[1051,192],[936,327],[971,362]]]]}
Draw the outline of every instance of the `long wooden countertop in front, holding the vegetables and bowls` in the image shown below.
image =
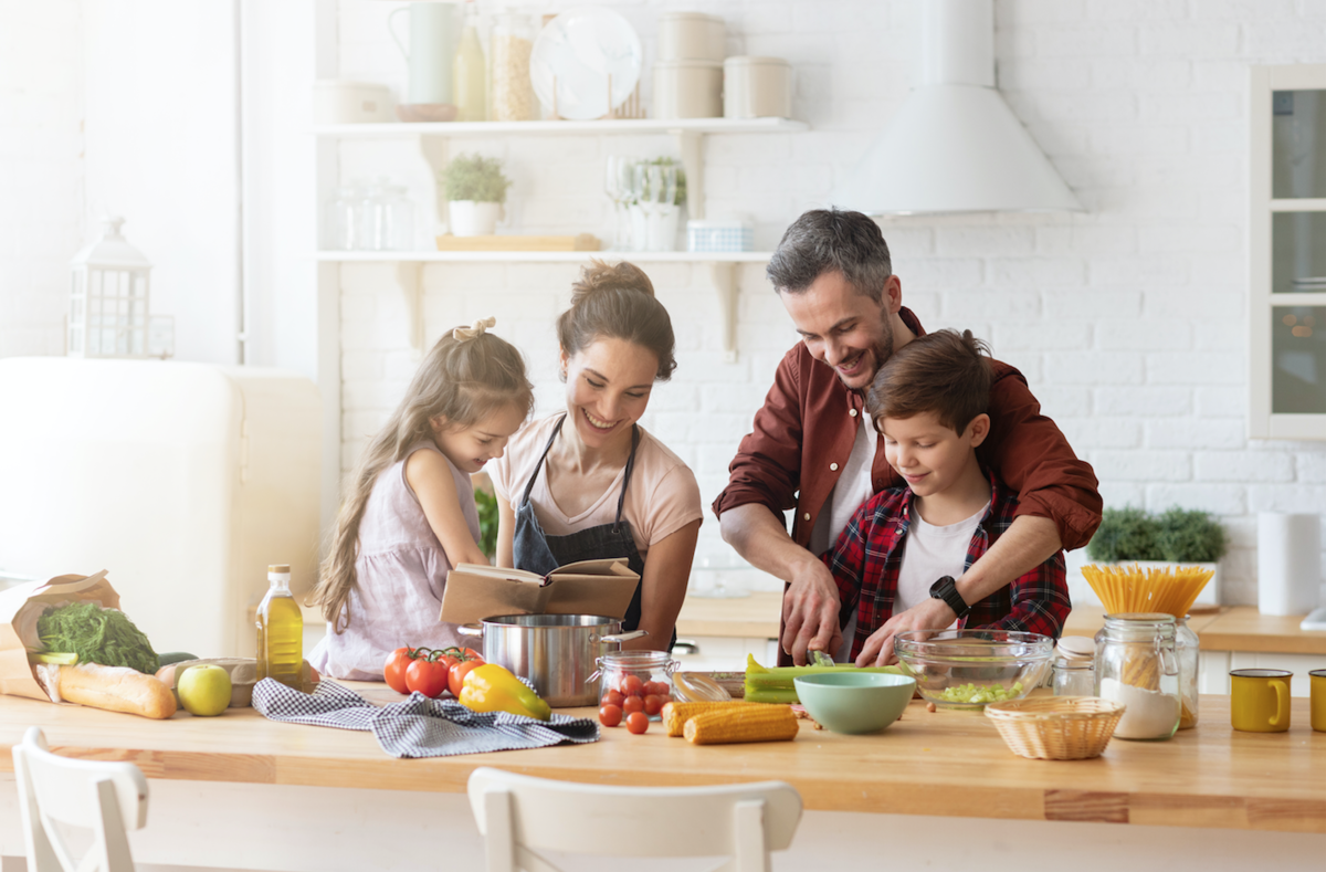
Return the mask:
{"type": "MultiPolygon", "coordinates": [[[[399,698],[383,685],[378,701],[399,698]]],[[[477,766],[615,785],[792,782],[808,808],[1078,820],[1326,834],[1326,733],[1293,701],[1288,733],[1236,733],[1227,697],[1201,697],[1200,722],[1168,742],[1115,739],[1093,761],[1028,761],[965,712],[911,704],[874,736],[802,724],[794,742],[692,746],[651,725],[644,736],[500,754],[392,759],[369,733],[277,724],[252,709],[150,721],[0,697],[0,771],[41,725],[57,751],[137,763],[149,778],[459,792],[477,766]]],[[[587,709],[570,709],[585,713],[587,709]]]]}

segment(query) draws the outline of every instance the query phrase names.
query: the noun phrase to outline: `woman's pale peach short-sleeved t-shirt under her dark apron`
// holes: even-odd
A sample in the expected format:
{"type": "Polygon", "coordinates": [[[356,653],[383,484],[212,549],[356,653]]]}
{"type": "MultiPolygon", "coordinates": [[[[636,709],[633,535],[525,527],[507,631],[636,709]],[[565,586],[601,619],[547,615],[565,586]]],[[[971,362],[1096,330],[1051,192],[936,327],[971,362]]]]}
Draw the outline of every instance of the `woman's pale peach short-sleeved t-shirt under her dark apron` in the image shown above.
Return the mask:
{"type": "MultiPolygon", "coordinates": [[[[525,484],[561,417],[562,413],[558,412],[552,417],[529,423],[512,437],[505,453],[489,464],[488,474],[493,480],[493,490],[509,502],[512,509],[518,510],[525,484]]],[[[617,518],[617,498],[622,493],[625,474],[623,466],[594,505],[573,517],[562,512],[548,490],[545,463],[538,469],[538,478],[529,494],[538,525],[548,535],[566,535],[601,523],[611,523],[617,518]]],[[[565,477],[558,480],[558,486],[565,486],[562,484],[565,481],[565,477]]],[[[692,521],[704,518],[700,485],[695,481],[695,473],[643,427],[640,444],[635,449],[631,482],[626,488],[622,516],[631,523],[631,535],[640,558],[646,557],[652,543],[666,539],[692,521]]]]}

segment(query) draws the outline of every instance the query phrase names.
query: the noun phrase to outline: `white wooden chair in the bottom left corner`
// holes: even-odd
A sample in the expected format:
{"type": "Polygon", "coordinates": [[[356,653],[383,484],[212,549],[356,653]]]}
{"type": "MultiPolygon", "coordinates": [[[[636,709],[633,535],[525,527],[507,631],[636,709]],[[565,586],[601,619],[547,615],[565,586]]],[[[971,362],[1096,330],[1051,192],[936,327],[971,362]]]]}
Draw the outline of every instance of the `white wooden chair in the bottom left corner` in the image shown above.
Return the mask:
{"type": "Polygon", "coordinates": [[[134,872],[126,830],[147,823],[147,779],[137,766],[52,754],[33,726],[13,746],[13,770],[28,872],[134,872]],[[81,861],[60,824],[93,831],[81,861]]]}

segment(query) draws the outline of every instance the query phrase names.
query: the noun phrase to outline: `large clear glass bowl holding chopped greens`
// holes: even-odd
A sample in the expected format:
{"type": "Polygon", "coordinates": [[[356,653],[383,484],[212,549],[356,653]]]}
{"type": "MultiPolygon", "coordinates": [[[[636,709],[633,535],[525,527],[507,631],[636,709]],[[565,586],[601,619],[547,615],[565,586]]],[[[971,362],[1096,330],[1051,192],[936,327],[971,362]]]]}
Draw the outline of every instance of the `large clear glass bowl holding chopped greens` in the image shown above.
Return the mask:
{"type": "Polygon", "coordinates": [[[906,632],[894,637],[902,668],[922,697],[953,709],[1020,700],[1045,681],[1054,639],[1005,629],[906,632]]]}

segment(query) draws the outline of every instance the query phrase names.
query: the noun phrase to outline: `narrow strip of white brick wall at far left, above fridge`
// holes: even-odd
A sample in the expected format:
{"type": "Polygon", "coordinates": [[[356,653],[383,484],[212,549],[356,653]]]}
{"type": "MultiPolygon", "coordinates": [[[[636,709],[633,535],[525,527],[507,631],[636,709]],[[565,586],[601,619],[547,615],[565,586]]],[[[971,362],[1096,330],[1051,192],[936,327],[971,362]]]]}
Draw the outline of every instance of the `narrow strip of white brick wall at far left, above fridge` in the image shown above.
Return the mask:
{"type": "Polygon", "coordinates": [[[0,356],[64,354],[84,243],[80,0],[0,0],[0,356]]]}

